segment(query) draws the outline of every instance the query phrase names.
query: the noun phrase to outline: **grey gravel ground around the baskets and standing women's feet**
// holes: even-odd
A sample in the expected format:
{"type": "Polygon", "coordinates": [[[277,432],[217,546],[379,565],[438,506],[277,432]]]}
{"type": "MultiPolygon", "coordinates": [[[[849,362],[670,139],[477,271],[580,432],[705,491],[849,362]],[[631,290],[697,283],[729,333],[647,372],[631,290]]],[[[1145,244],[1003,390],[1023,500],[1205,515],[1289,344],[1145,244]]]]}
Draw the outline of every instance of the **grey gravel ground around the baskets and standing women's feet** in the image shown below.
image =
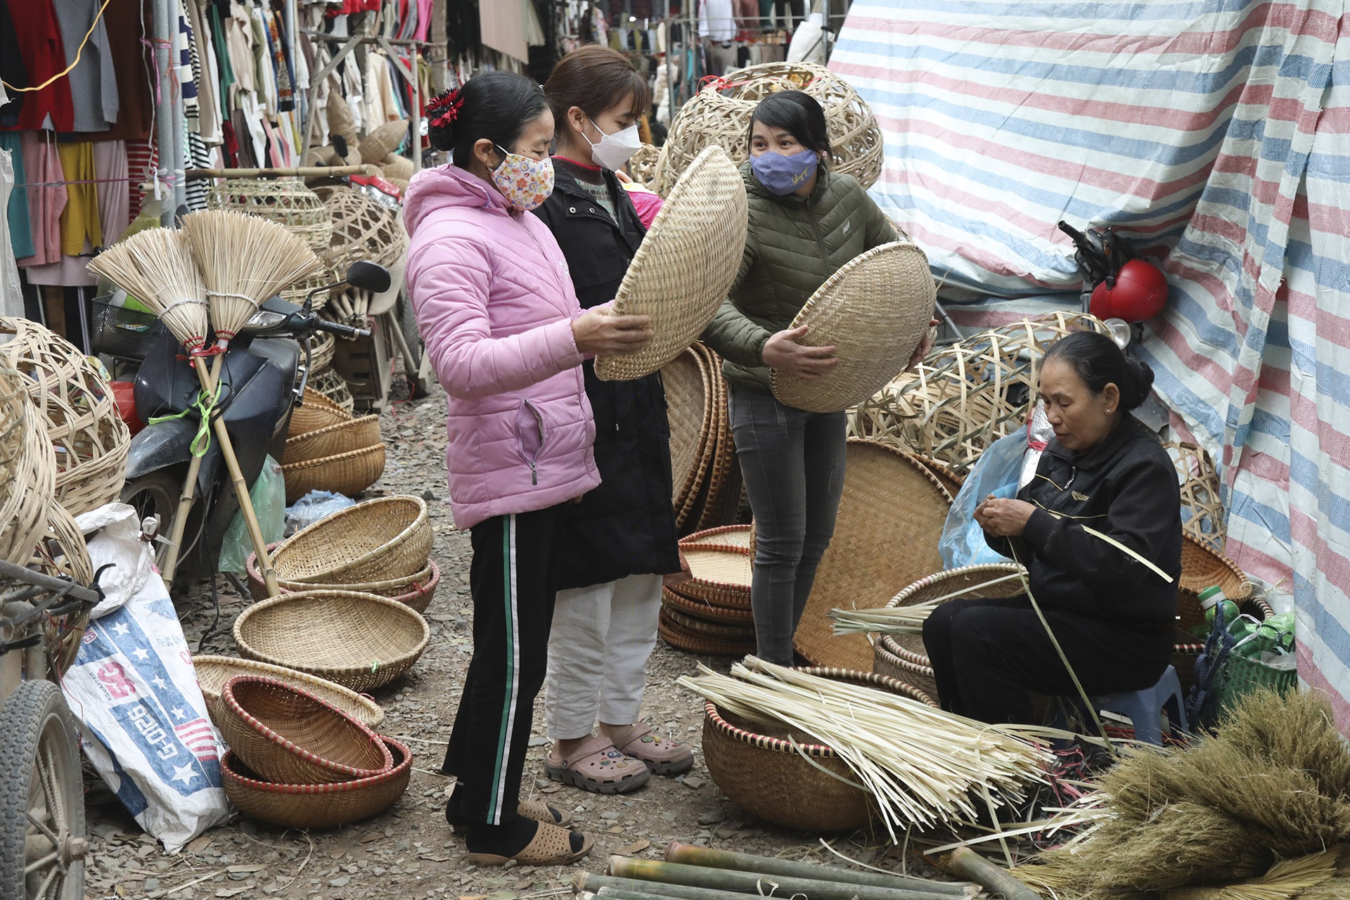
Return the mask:
{"type": "MultiPolygon", "coordinates": [[[[564,896],[576,869],[603,872],[612,853],[659,858],[670,841],[745,853],[826,861],[818,835],[768,826],[738,811],[713,784],[702,764],[702,707],[675,680],[699,661],[725,669],[725,660],[701,658],[657,644],[648,665],[644,715],[657,729],[690,742],[698,756],[680,779],[653,777],[629,796],[599,796],[562,787],[544,777],[543,703],[536,704],[522,797],[545,797],[572,811],[572,827],[595,837],[591,855],[574,868],[482,869],[467,865],[464,846],[444,819],[452,781],[440,761],[464,672],[473,652],[468,596],[468,534],[456,532],[446,501],[446,399],[432,387],[425,399],[400,402],[386,412],[381,429],[389,444],[383,478],[364,498],[418,494],[427,498],[435,525],[435,559],[441,583],[427,610],[431,644],[412,673],[375,695],[387,719],[382,731],[408,743],[413,777],[408,792],[382,815],[328,830],[282,830],[235,818],[212,828],[177,855],[143,834],[117,799],[86,766],[85,785],[92,862],[88,897],[512,897],[564,896]]],[[[220,579],[220,621],[205,584],[180,599],[178,613],[196,650],[211,633],[204,653],[238,656],[231,637],[235,617],[247,606],[220,579]]],[[[886,854],[879,838],[830,835],[849,857],[900,869],[905,861],[886,854]]],[[[922,862],[909,862],[910,870],[922,862]]]]}

